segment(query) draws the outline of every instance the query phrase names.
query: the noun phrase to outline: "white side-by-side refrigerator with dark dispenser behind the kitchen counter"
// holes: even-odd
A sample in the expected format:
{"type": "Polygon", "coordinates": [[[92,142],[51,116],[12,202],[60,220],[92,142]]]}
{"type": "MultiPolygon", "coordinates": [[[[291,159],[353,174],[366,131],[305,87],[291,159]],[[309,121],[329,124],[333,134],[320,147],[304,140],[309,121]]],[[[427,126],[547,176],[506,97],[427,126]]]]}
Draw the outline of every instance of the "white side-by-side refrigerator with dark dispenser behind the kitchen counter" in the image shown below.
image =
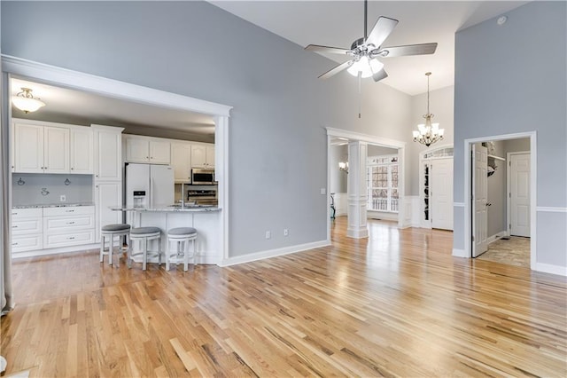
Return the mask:
{"type": "Polygon", "coordinates": [[[126,206],[162,208],[174,204],[174,169],[168,165],[126,165],[126,206]]]}

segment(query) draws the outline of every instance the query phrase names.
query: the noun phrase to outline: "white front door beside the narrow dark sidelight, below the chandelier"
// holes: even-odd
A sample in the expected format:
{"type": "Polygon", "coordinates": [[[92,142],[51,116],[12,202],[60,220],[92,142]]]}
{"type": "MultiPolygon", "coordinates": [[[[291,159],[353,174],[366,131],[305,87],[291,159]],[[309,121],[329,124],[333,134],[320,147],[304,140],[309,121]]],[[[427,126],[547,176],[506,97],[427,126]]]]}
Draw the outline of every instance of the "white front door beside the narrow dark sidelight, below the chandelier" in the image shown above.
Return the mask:
{"type": "Polygon", "coordinates": [[[453,230],[453,159],[431,164],[431,227],[453,230]]]}

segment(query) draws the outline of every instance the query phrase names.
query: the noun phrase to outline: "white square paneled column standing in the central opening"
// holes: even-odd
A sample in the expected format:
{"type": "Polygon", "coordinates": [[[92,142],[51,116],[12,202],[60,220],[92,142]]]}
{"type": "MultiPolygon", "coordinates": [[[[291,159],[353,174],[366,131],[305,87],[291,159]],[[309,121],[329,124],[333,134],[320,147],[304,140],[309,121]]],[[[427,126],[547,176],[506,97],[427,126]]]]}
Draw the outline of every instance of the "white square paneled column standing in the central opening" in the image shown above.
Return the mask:
{"type": "Polygon", "coordinates": [[[366,223],[368,191],[366,188],[366,157],[368,144],[361,141],[348,143],[348,227],[346,236],[368,238],[366,223]]]}

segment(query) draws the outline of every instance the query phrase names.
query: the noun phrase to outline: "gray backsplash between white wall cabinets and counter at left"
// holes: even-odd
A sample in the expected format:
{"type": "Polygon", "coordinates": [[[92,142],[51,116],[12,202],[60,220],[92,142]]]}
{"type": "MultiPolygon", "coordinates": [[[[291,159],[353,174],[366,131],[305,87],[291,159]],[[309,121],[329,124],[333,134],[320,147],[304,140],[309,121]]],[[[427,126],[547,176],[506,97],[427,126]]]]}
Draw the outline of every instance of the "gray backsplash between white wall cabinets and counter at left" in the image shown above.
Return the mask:
{"type": "Polygon", "coordinates": [[[12,174],[13,206],[92,202],[92,193],[92,175],[12,174]]]}

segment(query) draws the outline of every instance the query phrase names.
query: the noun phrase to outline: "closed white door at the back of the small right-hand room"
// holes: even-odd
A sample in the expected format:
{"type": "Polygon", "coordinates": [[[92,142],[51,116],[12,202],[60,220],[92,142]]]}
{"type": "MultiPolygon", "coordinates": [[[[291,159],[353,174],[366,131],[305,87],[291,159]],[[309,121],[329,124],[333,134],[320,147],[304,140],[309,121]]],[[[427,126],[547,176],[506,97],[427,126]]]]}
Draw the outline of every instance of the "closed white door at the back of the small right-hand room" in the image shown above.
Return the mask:
{"type": "Polygon", "coordinates": [[[530,236],[530,154],[510,155],[510,235],[530,236]]]}

